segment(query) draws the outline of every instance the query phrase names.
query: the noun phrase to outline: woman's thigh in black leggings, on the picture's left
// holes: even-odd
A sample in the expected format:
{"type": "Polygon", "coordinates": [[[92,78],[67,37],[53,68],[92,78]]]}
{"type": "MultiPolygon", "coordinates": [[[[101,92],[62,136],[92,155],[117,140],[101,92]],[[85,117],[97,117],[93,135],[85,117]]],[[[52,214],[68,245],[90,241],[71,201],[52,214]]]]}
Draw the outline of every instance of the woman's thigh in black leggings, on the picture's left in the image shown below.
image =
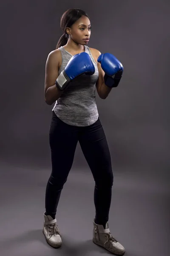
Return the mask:
{"type": "Polygon", "coordinates": [[[52,113],[49,131],[51,148],[52,176],[67,177],[74,160],[78,142],[77,127],[62,122],[52,113]]]}

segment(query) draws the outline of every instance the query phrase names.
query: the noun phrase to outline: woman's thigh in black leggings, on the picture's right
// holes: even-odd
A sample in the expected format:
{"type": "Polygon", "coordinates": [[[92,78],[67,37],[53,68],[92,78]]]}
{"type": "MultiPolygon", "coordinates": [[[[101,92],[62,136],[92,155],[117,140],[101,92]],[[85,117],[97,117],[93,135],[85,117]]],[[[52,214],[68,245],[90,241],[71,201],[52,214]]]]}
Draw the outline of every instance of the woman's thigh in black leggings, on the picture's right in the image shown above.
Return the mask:
{"type": "Polygon", "coordinates": [[[79,143],[95,181],[113,182],[111,154],[104,129],[98,119],[79,133],[79,143]]]}

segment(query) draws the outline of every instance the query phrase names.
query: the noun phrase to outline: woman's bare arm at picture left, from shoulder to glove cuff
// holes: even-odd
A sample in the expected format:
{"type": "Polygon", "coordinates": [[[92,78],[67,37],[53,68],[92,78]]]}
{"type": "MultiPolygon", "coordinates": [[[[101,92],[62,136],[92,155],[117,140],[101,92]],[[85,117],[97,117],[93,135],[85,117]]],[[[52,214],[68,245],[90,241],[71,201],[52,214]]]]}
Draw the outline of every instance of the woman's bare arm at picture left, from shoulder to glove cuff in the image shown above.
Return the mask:
{"type": "Polygon", "coordinates": [[[45,65],[45,102],[52,105],[61,95],[62,92],[56,87],[55,81],[58,77],[59,66],[59,50],[54,50],[49,53],[45,65]]]}

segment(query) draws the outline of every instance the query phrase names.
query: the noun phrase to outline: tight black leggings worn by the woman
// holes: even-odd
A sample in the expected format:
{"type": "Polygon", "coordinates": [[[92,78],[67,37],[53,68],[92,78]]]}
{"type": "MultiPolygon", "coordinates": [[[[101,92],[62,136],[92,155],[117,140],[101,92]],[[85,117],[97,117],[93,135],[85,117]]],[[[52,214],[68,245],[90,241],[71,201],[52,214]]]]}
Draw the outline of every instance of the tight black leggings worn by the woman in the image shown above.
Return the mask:
{"type": "Polygon", "coordinates": [[[71,170],[79,141],[95,181],[95,223],[105,225],[111,206],[113,172],[108,143],[99,118],[92,125],[77,127],[66,124],[53,111],[49,139],[52,172],[45,193],[46,215],[55,218],[61,191],[71,170]]]}

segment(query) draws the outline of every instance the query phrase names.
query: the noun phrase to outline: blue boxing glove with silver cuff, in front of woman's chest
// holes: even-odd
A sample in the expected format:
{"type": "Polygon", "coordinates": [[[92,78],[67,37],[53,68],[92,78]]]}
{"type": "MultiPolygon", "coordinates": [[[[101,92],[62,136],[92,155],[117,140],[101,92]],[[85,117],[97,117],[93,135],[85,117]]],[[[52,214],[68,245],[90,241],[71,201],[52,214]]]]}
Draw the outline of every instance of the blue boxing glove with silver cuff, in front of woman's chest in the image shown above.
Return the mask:
{"type": "Polygon", "coordinates": [[[68,84],[77,76],[82,74],[93,75],[94,72],[95,67],[90,56],[87,52],[81,52],[71,57],[65,69],[57,77],[55,84],[60,90],[65,90],[68,84]]]}

